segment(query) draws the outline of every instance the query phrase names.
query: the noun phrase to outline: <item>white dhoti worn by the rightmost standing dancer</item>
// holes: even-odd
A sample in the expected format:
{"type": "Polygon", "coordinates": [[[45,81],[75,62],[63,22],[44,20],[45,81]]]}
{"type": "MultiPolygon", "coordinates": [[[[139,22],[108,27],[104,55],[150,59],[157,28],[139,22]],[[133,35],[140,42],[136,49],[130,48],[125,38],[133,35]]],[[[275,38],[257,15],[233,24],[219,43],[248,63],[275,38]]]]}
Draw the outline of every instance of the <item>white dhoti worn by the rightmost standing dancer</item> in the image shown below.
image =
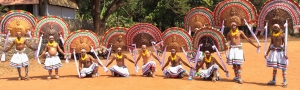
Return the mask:
{"type": "Polygon", "coordinates": [[[271,49],[267,58],[267,67],[286,69],[288,61],[285,58],[283,47],[273,47],[271,45],[271,49]]]}

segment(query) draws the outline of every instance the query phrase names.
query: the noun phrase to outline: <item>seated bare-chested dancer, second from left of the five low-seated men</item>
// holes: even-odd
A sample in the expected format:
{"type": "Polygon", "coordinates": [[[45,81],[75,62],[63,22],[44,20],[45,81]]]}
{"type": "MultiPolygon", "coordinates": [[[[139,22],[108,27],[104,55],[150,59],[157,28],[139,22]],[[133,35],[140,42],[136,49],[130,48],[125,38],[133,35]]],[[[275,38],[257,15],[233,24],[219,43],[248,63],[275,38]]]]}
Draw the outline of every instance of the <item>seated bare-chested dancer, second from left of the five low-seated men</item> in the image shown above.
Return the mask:
{"type": "MultiPolygon", "coordinates": [[[[128,77],[129,71],[125,65],[124,59],[129,60],[130,62],[134,63],[131,59],[129,59],[126,55],[122,54],[122,49],[119,47],[117,49],[117,55],[115,55],[112,60],[107,64],[108,67],[114,60],[116,60],[117,65],[114,65],[110,68],[111,74],[113,76],[123,76],[128,77]]],[[[109,57],[107,57],[109,58],[109,57]]]]}

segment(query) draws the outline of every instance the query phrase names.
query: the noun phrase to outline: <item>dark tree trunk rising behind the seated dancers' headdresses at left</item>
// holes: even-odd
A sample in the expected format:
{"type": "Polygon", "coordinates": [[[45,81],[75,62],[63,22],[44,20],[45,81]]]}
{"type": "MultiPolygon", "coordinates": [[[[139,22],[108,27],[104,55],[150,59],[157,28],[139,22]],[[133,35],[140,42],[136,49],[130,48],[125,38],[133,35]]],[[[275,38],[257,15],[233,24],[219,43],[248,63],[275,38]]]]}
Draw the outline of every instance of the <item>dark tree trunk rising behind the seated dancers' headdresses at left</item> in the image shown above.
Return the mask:
{"type": "Polygon", "coordinates": [[[93,0],[93,23],[94,23],[94,31],[97,35],[103,35],[104,33],[100,32],[100,1],[101,0],[93,0]]]}

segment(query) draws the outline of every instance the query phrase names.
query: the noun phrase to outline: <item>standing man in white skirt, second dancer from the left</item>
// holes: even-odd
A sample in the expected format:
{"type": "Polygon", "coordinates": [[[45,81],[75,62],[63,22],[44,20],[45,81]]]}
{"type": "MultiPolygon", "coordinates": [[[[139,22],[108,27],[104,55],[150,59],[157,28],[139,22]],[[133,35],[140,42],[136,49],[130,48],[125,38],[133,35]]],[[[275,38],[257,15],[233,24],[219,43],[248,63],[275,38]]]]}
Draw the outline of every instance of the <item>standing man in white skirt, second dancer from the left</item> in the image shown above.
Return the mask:
{"type": "Polygon", "coordinates": [[[47,56],[46,56],[46,60],[45,60],[43,68],[48,70],[48,72],[49,72],[49,76],[47,77],[48,80],[51,79],[52,69],[55,69],[55,74],[56,74],[55,78],[59,79],[58,68],[60,68],[62,66],[62,63],[60,61],[60,58],[58,57],[57,50],[60,53],[62,53],[63,55],[65,55],[64,52],[59,47],[58,43],[56,43],[54,41],[54,37],[51,35],[51,36],[49,36],[49,41],[48,41],[48,44],[46,45],[44,51],[38,57],[38,58],[40,58],[47,52],[47,56]]]}

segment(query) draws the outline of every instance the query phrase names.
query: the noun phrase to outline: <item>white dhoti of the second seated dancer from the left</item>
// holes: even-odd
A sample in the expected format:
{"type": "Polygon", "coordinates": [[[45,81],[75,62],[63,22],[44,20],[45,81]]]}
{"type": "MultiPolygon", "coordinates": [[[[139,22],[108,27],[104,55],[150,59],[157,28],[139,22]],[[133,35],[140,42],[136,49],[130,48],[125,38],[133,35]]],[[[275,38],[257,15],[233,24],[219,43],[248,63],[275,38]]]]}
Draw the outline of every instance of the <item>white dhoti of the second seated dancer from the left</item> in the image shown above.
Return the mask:
{"type": "Polygon", "coordinates": [[[114,73],[117,73],[124,77],[129,76],[129,71],[126,66],[120,67],[120,66],[114,65],[110,68],[110,71],[112,72],[112,75],[114,75],[114,73]]]}

